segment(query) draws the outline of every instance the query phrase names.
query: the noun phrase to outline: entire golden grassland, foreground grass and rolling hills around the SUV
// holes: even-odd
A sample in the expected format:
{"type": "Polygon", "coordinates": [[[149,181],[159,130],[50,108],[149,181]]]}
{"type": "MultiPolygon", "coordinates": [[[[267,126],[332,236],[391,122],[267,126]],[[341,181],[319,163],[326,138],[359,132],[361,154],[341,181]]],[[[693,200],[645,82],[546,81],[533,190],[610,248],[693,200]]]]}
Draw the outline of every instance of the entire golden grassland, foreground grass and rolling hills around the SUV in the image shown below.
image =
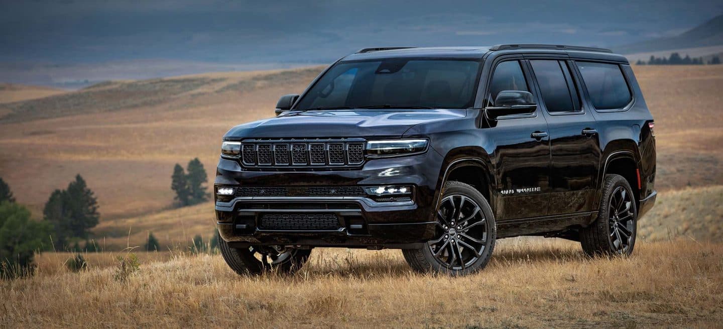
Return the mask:
{"type": "MultiPolygon", "coordinates": [[[[300,273],[241,277],[183,246],[213,234],[213,203],[175,209],[171,169],[199,157],[213,181],[221,136],[273,116],[321,67],[108,82],[25,101],[0,93],[0,177],[35,218],[82,174],[98,196],[100,247],[38,255],[31,278],[0,281],[0,327],[716,328],[723,320],[723,65],[636,66],[656,119],[656,206],[632,257],[589,259],[578,243],[503,239],[481,273],[412,273],[397,250],[315,249],[300,273]],[[134,251],[139,248],[134,249],[134,251]]],[[[210,184],[209,184],[210,185],[210,184]]]]}

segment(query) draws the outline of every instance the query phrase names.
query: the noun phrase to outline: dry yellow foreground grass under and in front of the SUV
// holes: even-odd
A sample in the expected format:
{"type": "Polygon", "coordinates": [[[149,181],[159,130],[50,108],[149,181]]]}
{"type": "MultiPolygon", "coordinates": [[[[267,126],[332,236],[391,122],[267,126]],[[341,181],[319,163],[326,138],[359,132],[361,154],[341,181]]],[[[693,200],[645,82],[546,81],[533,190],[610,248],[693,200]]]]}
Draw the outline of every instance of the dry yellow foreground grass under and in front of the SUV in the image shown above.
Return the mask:
{"type": "Polygon", "coordinates": [[[713,328],[721,255],[721,244],[679,239],[589,260],[571,242],[510,239],[482,273],[450,278],[411,273],[395,250],[315,249],[301,273],[260,277],[237,276],[220,256],[176,254],[143,261],[125,283],[113,268],[41,265],[0,282],[0,326],[713,328]]]}

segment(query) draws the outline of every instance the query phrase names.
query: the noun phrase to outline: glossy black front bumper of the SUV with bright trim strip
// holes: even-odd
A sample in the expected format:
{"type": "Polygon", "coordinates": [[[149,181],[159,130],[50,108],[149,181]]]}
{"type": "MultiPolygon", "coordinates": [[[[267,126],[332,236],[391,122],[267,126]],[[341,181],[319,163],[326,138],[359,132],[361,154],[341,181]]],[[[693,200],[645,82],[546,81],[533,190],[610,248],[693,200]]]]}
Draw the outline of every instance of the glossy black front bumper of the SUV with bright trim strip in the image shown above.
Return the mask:
{"type": "Polygon", "coordinates": [[[402,158],[369,160],[353,171],[247,171],[221,158],[216,185],[246,187],[411,185],[411,200],[377,202],[371,197],[234,197],[215,204],[221,238],[231,244],[309,247],[418,247],[432,239],[436,224],[433,200],[442,157],[434,151],[402,158]],[[265,214],[333,214],[338,227],[264,228],[265,214]]]}

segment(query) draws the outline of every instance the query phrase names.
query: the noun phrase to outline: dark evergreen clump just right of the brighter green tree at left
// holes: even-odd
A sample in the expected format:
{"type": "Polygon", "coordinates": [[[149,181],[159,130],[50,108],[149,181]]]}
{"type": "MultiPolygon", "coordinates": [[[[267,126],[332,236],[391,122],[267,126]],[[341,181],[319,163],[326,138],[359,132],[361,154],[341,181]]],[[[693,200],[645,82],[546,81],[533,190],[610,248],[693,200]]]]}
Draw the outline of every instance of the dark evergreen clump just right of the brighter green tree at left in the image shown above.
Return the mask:
{"type": "Polygon", "coordinates": [[[98,225],[98,200],[82,176],[64,190],[56,189],[43,209],[46,221],[54,226],[53,238],[57,247],[68,247],[71,238],[87,238],[88,230],[98,225]]]}

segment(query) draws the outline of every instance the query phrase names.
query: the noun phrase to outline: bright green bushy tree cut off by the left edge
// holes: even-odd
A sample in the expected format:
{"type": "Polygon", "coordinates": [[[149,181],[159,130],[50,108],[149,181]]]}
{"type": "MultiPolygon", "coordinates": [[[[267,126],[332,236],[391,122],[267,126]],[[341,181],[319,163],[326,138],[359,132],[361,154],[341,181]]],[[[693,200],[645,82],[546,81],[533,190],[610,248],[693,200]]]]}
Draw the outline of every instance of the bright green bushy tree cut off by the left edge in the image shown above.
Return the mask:
{"type": "Polygon", "coordinates": [[[33,255],[43,249],[50,223],[30,221],[30,211],[12,202],[0,202],[0,278],[33,270],[33,255]]]}

